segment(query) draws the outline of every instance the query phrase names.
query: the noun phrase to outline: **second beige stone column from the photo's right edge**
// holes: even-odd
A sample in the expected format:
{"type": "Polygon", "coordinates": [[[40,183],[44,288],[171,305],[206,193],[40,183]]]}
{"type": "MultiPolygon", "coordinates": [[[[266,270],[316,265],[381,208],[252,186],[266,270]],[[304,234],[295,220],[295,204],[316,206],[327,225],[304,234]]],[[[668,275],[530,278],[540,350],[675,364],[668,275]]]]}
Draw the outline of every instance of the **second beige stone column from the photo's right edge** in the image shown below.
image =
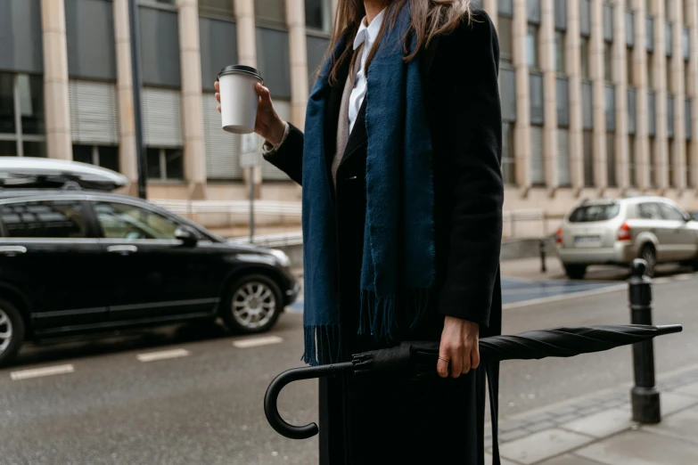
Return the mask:
{"type": "Polygon", "coordinates": [[[686,83],[684,82],[684,45],[682,34],[684,29],[684,9],[681,2],[672,2],[673,12],[668,17],[674,21],[673,37],[671,37],[673,53],[671,54],[671,79],[674,89],[674,185],[679,191],[686,189],[686,122],[685,102],[686,83]]]}

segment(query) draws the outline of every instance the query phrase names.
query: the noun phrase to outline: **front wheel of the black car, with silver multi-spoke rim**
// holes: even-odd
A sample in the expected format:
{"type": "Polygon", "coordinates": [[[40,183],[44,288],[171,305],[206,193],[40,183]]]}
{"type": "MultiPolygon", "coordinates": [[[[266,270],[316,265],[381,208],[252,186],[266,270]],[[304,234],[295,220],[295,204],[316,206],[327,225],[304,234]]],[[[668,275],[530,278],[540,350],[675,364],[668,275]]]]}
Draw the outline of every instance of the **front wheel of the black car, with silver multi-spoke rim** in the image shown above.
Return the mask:
{"type": "Polygon", "coordinates": [[[265,274],[251,274],[231,284],[220,316],[231,330],[254,334],[272,329],[282,311],[278,284],[265,274]]]}

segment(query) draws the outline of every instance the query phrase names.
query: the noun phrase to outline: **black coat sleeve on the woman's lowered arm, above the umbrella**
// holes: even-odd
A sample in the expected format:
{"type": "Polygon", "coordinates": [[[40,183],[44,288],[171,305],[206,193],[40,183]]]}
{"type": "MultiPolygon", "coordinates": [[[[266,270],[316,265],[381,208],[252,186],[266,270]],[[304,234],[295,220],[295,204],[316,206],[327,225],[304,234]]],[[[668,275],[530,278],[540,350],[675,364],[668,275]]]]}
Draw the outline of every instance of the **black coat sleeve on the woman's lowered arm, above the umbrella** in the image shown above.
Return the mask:
{"type": "MultiPolygon", "coordinates": [[[[447,109],[448,167],[454,188],[446,276],[439,313],[489,325],[502,239],[504,185],[501,173],[502,117],[497,84],[499,45],[494,25],[476,12],[439,41],[435,61],[447,109]]],[[[439,157],[439,153],[434,153],[439,157]]]]}

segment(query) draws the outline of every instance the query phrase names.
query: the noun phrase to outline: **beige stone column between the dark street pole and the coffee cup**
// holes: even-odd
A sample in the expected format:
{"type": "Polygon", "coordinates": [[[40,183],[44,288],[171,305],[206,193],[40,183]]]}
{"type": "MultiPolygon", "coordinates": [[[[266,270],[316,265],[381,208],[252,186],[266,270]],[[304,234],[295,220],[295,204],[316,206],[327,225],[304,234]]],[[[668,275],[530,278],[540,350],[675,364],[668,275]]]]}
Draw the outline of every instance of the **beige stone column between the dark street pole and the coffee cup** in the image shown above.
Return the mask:
{"type": "Polygon", "coordinates": [[[197,0],[177,0],[179,61],[182,76],[182,129],[185,138],[185,178],[190,199],[206,198],[206,158],[201,102],[201,51],[197,0]]]}

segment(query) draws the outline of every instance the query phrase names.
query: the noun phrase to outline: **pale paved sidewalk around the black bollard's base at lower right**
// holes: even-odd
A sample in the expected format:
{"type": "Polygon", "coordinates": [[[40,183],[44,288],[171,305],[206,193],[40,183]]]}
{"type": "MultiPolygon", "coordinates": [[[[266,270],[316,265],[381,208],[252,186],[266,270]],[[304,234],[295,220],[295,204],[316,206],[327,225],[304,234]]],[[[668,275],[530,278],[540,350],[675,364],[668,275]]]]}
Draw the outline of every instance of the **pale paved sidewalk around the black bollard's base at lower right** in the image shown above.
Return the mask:
{"type": "Polygon", "coordinates": [[[698,366],[659,388],[658,425],[631,420],[629,385],[500,419],[502,465],[696,465],[698,366]]]}

